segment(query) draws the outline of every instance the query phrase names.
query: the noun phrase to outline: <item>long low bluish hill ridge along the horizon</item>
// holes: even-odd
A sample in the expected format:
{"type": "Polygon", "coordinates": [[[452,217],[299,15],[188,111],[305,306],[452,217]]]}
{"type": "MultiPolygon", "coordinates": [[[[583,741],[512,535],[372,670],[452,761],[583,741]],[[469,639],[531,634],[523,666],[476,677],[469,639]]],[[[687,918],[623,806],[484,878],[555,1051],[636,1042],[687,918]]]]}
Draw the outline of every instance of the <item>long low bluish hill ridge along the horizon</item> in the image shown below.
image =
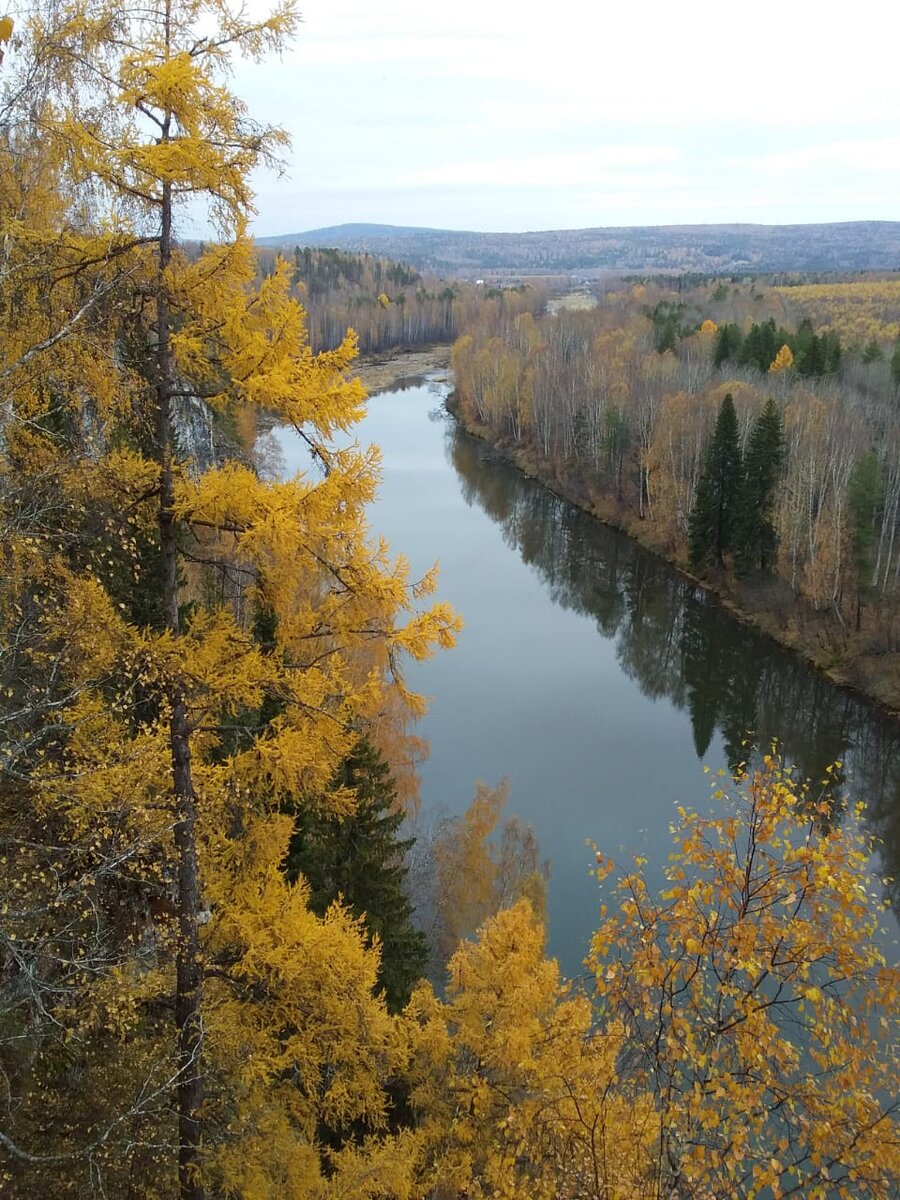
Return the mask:
{"type": "Polygon", "coordinates": [[[263,246],[334,246],[462,276],[492,271],[590,275],[900,269],[900,221],[623,226],[534,233],[340,224],[257,241],[263,246]]]}

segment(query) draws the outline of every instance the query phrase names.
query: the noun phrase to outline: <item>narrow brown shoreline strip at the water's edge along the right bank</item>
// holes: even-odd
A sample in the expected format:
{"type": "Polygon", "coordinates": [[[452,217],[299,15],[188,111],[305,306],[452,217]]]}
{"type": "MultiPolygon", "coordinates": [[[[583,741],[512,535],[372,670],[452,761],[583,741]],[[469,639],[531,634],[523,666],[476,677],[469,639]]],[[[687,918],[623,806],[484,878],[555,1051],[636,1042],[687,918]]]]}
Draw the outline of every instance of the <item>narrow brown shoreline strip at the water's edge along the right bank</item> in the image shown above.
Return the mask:
{"type": "Polygon", "coordinates": [[[589,504],[583,503],[576,496],[571,494],[569,488],[565,486],[563,480],[548,480],[538,474],[529,464],[527,464],[527,455],[517,452],[515,448],[505,445],[500,440],[496,440],[490,436],[490,430],[481,428],[480,426],[472,426],[466,420],[463,420],[460,413],[460,406],[455,401],[452,392],[448,396],[445,401],[445,408],[448,413],[452,416],[455,421],[460,425],[462,430],[469,433],[472,437],[478,438],[479,442],[484,442],[488,445],[499,457],[510,467],[518,470],[526,479],[533,480],[535,484],[546,488],[553,496],[559,497],[559,499],[565,500],[566,504],[571,504],[574,508],[584,512],[587,516],[592,517],[594,521],[599,521],[601,524],[608,526],[611,529],[616,529],[623,533],[626,538],[631,538],[642,550],[656,558],[664,559],[668,565],[686,580],[690,580],[692,584],[702,588],[709,595],[715,596],[716,601],[728,612],[736,620],[749,625],[757,632],[770,638],[782,649],[792,650],[798,654],[809,666],[817,671],[823,678],[828,679],[829,683],[838,688],[844,688],[846,691],[852,692],[854,696],[860,697],[868,704],[871,704],[882,716],[889,720],[900,721],[900,706],[898,701],[890,696],[880,696],[874,691],[869,691],[854,683],[852,679],[847,678],[846,674],[839,667],[830,667],[816,660],[814,652],[803,644],[803,642],[796,637],[787,637],[780,632],[780,628],[774,625],[775,618],[766,619],[764,612],[755,612],[751,608],[745,608],[740,605],[738,600],[734,599],[725,589],[716,587],[713,581],[702,578],[694,575],[690,570],[685,568],[677,558],[671,553],[667,553],[658,542],[650,538],[642,538],[640,532],[635,532],[631,524],[617,520],[616,515],[612,512],[598,512],[595,508],[589,504]]]}

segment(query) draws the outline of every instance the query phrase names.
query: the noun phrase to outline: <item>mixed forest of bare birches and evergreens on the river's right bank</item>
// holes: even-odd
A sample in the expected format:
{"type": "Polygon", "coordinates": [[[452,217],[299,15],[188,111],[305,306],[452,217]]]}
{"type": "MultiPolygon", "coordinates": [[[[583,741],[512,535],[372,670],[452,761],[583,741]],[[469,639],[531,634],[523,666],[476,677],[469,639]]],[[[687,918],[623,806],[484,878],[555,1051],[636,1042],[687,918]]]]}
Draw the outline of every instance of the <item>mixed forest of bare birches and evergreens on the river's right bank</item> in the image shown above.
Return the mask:
{"type": "Polygon", "coordinates": [[[538,478],[900,708],[900,284],[611,283],[454,348],[460,413],[538,478]]]}

